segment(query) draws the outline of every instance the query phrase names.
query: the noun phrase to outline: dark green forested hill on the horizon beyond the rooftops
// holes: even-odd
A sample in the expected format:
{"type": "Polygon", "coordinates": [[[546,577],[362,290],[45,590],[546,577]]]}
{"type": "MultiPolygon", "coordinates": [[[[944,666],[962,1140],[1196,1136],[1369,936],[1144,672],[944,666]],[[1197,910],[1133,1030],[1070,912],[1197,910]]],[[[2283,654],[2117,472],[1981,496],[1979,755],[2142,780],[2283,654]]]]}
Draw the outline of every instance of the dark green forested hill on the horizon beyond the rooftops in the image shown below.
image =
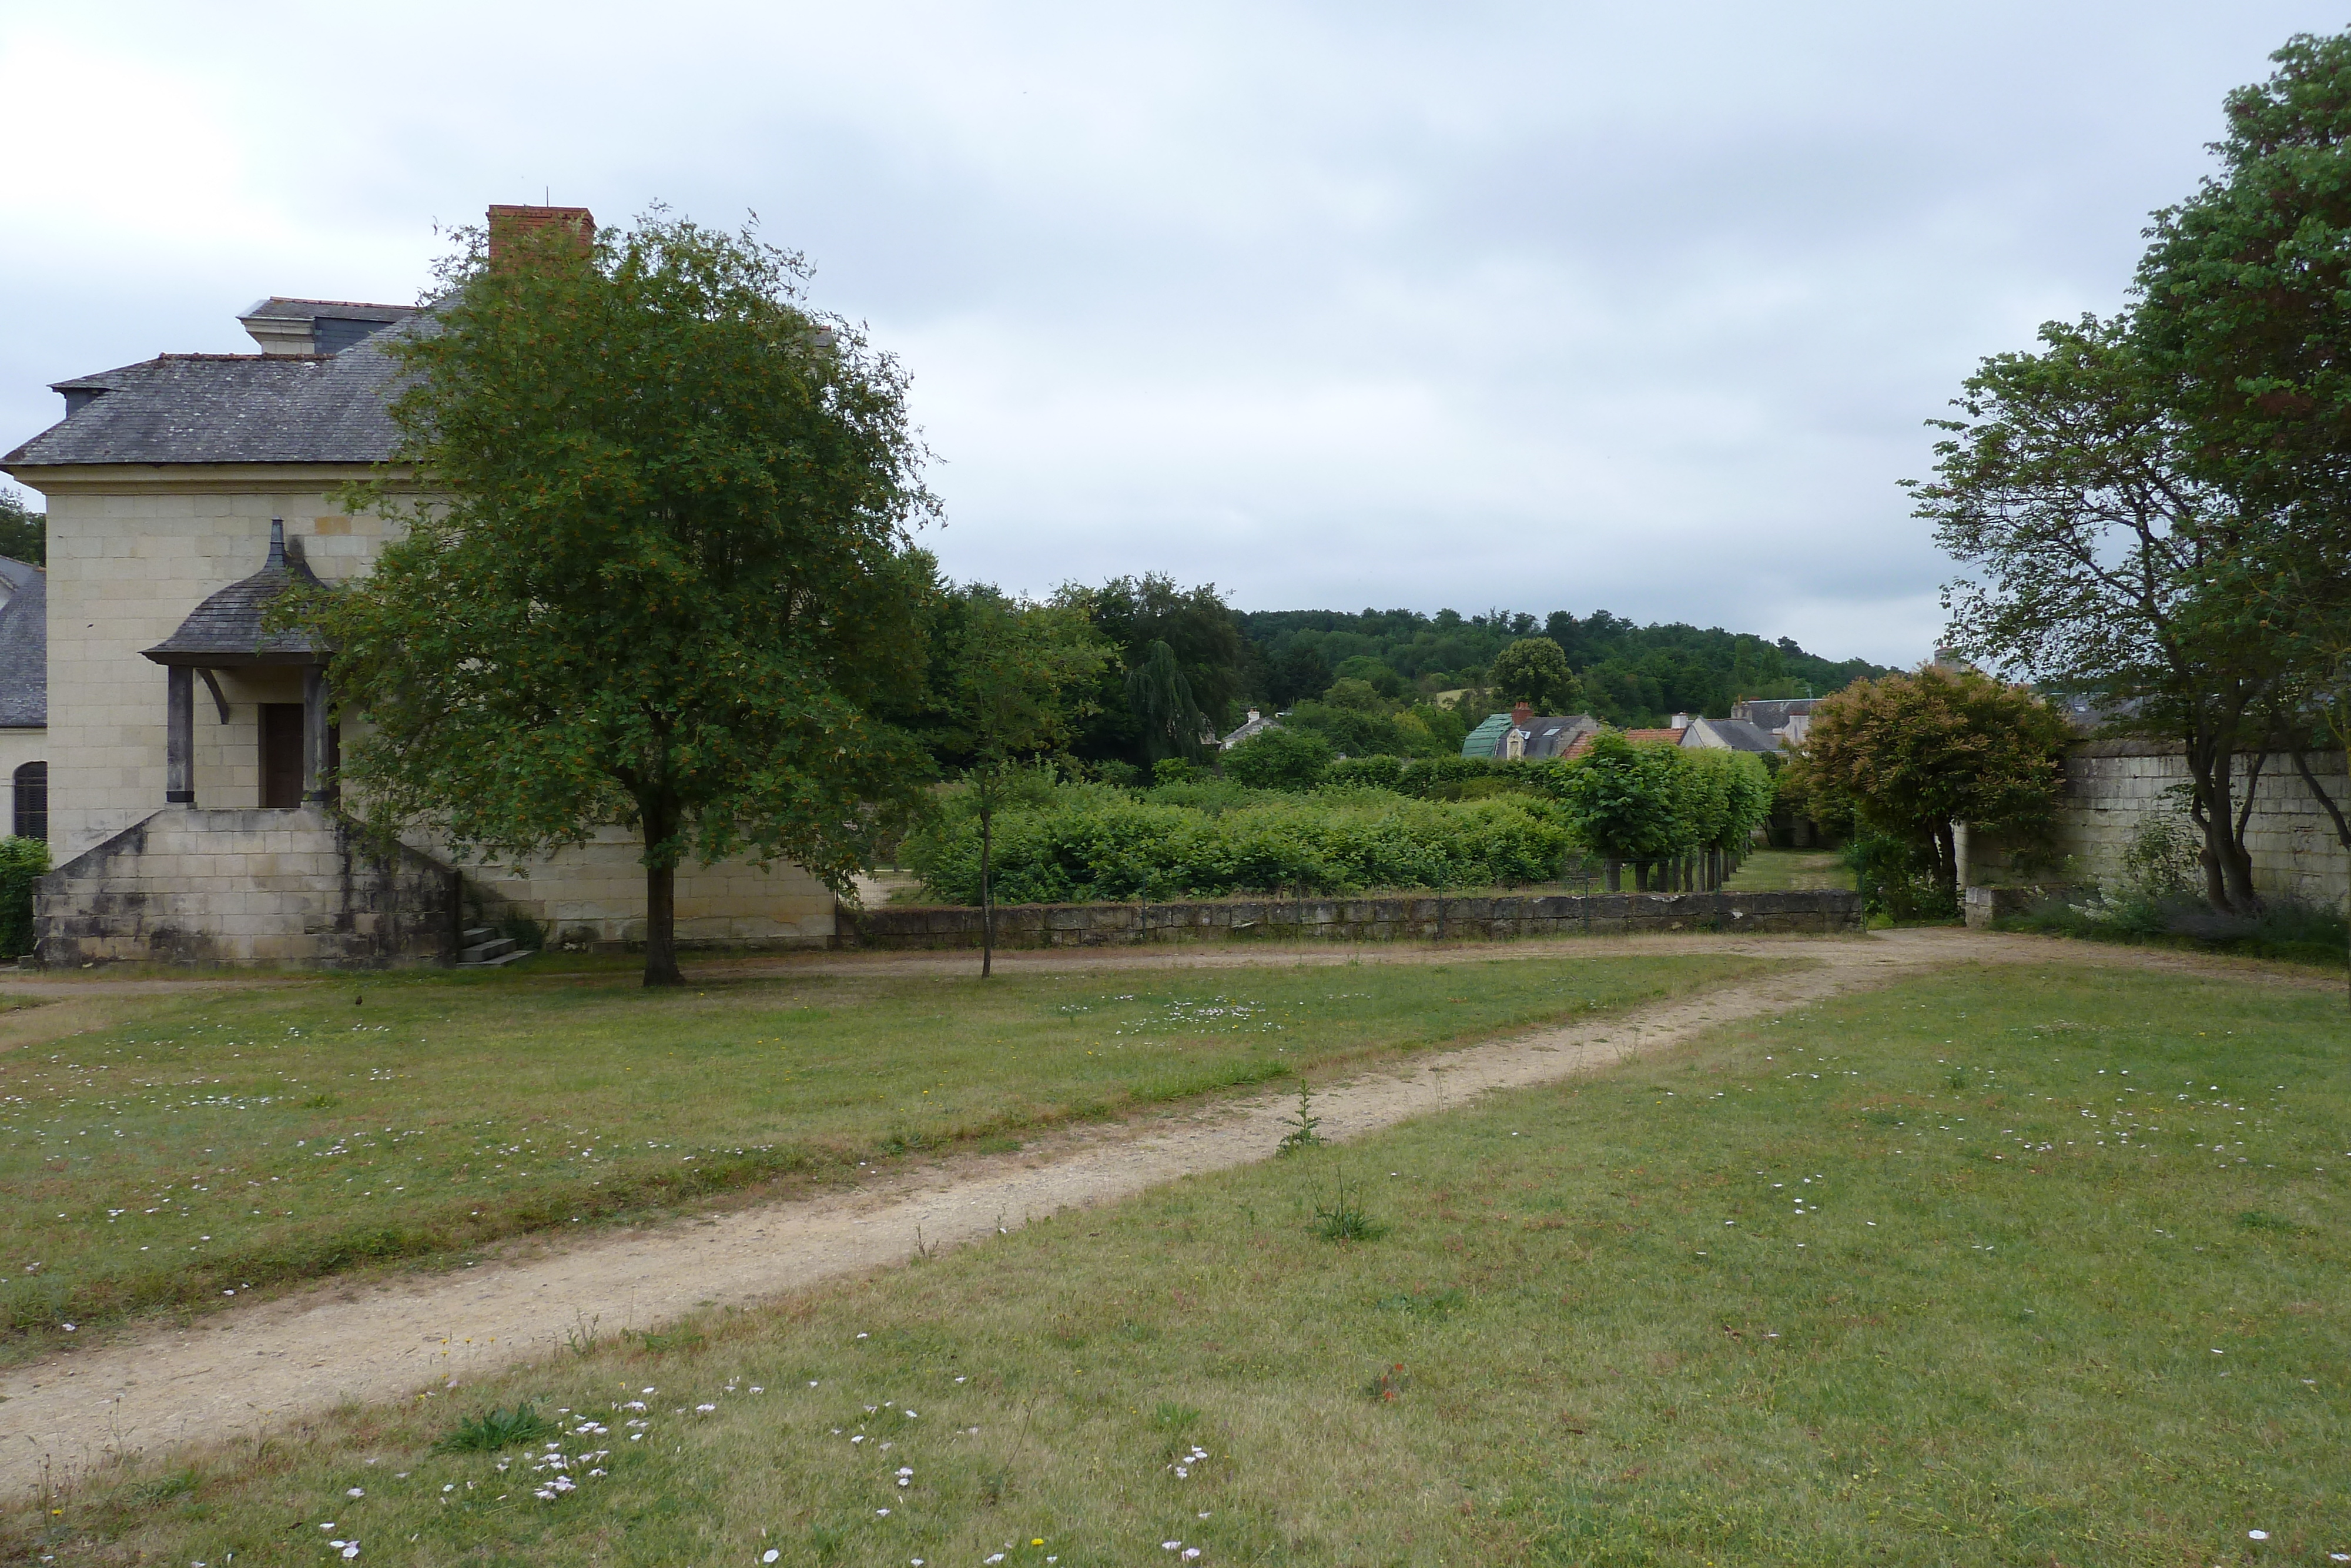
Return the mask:
{"type": "Polygon", "coordinates": [[[1277,708],[1321,696],[1338,679],[1366,679],[1420,693],[1479,689],[1509,642],[1549,637],[1582,682],[1582,710],[1610,724],[1665,724],[1674,712],[1726,717],[1730,703],[1754,696],[1827,696],[1855,679],[1886,675],[1867,658],[1829,661],[1806,654],[1791,637],[1766,642],[1751,632],[1683,623],[1634,625],[1606,609],[1589,616],[1552,611],[1488,611],[1462,616],[1441,609],[1234,611],[1262,658],[1262,696],[1277,708]]]}

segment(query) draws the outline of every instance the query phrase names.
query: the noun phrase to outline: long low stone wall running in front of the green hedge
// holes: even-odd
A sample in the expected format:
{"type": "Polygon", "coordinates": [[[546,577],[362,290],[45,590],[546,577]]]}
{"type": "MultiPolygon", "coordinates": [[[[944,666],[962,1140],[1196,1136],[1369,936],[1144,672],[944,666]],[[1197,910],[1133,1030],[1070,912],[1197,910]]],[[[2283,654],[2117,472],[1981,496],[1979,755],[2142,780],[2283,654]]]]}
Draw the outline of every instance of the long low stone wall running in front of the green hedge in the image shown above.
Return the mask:
{"type": "MultiPolygon", "coordinates": [[[[997,907],[999,947],[1133,943],[1380,943],[1617,936],[1625,931],[1855,931],[1857,893],[1594,893],[1436,898],[1232,898],[1215,903],[1023,903],[997,907]]],[[[842,910],[844,947],[978,947],[969,907],[842,910]]]]}

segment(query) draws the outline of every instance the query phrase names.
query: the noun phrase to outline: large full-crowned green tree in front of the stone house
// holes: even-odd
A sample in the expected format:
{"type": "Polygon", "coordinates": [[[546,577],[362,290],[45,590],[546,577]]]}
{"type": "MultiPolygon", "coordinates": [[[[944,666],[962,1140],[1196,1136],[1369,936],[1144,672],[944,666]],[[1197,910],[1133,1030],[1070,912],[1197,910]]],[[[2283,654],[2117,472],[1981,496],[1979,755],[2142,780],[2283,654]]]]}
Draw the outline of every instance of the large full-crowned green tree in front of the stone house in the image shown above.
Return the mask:
{"type": "Polygon", "coordinates": [[[926,776],[872,717],[924,658],[905,376],[804,277],[663,214],[468,235],[390,346],[407,473],[355,496],[407,536],[320,614],[355,806],[498,858],[632,827],[647,985],[679,983],[682,863],[842,889],[926,776]]]}

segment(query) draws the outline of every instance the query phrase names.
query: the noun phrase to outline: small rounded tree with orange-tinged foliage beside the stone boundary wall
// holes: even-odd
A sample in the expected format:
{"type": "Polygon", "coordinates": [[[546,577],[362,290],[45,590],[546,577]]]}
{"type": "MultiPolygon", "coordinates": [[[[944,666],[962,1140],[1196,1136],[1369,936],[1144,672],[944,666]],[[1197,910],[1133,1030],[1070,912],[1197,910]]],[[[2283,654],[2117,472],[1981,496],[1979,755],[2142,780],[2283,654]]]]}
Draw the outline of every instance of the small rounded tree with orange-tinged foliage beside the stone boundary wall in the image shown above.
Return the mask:
{"type": "Polygon", "coordinates": [[[1975,670],[1928,665],[1857,682],[1813,710],[1803,780],[1853,804],[1890,837],[1930,846],[1935,879],[1958,893],[1951,823],[2034,842],[2064,797],[2064,715],[1975,670]]]}

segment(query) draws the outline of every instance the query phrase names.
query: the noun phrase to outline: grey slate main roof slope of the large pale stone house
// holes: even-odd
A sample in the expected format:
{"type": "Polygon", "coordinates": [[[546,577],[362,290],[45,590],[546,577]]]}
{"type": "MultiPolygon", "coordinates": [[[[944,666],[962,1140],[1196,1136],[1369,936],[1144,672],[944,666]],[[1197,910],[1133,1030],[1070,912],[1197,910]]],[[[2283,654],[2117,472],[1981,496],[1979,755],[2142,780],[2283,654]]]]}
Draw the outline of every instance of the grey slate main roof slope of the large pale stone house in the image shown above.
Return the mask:
{"type": "Polygon", "coordinates": [[[376,339],[339,355],[158,355],[59,381],[80,407],[7,468],[71,463],[383,463],[400,367],[376,339]]]}

